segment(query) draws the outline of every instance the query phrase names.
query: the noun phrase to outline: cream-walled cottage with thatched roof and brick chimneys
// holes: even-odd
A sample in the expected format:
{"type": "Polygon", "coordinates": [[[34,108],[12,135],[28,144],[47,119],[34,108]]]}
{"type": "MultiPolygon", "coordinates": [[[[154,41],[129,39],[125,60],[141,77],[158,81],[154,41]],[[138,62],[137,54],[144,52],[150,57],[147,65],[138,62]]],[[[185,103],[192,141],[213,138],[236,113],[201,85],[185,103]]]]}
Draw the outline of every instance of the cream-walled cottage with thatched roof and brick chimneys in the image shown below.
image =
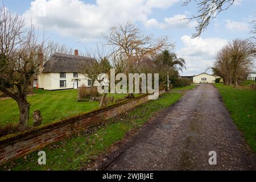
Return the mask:
{"type": "Polygon", "coordinates": [[[77,89],[82,84],[92,86],[92,80],[81,74],[82,66],[92,58],[54,53],[43,65],[43,54],[39,55],[39,75],[34,86],[45,90],[77,89]]]}

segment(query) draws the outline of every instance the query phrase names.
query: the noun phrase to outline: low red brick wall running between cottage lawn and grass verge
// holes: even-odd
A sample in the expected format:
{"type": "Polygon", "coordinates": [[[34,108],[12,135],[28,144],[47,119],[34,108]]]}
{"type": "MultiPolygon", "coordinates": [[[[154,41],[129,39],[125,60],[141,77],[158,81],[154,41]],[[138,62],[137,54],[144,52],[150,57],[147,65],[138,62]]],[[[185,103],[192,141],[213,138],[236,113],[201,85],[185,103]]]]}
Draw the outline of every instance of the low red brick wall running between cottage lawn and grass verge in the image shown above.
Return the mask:
{"type": "MultiPolygon", "coordinates": [[[[159,94],[165,93],[164,89],[159,94]]],[[[103,123],[106,119],[121,114],[127,110],[148,101],[148,95],[142,95],[132,100],[103,107],[76,117],[33,127],[22,133],[10,134],[0,138],[0,165],[12,159],[20,158],[44,146],[68,137],[81,129],[103,123]]]]}

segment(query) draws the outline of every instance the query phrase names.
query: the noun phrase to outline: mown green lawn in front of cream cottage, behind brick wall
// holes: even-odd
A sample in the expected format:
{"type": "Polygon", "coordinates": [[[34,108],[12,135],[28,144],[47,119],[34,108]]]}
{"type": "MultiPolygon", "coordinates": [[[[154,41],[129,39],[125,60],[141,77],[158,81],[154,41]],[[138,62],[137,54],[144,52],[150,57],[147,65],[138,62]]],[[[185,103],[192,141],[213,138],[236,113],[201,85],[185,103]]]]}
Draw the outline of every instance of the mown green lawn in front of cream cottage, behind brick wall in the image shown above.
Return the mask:
{"type": "MultiPolygon", "coordinates": [[[[123,98],[126,94],[113,95],[115,100],[123,98]]],[[[77,90],[35,90],[35,94],[28,96],[30,102],[30,122],[32,125],[32,113],[39,109],[43,116],[43,124],[71,117],[82,112],[98,108],[98,102],[77,102],[77,90]]],[[[0,100],[0,125],[7,123],[17,123],[19,121],[19,109],[16,102],[9,98],[0,100]]]]}

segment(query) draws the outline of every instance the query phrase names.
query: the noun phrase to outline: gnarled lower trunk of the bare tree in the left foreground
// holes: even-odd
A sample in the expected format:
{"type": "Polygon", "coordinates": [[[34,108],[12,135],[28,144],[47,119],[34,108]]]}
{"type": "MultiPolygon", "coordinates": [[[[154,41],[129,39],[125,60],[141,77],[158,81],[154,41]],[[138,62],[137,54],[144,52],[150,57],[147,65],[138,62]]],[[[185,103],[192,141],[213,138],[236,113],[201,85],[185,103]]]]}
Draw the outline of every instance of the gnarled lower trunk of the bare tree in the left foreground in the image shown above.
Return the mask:
{"type": "Polygon", "coordinates": [[[18,100],[17,103],[19,106],[19,130],[24,130],[28,127],[30,104],[25,99],[18,100]]]}

